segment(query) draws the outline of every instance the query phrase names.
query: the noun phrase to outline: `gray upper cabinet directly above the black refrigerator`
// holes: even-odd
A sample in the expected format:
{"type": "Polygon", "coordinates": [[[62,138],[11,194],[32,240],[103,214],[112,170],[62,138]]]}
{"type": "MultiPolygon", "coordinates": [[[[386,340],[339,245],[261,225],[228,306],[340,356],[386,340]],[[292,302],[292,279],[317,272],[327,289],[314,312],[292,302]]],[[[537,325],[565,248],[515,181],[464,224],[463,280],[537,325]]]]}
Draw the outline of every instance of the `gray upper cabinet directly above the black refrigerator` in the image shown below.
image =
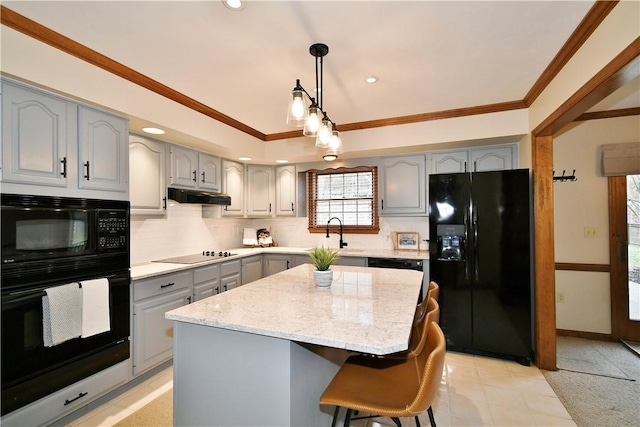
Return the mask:
{"type": "Polygon", "coordinates": [[[515,144],[471,148],[468,150],[436,151],[431,153],[429,173],[486,172],[514,169],[515,144]]]}

